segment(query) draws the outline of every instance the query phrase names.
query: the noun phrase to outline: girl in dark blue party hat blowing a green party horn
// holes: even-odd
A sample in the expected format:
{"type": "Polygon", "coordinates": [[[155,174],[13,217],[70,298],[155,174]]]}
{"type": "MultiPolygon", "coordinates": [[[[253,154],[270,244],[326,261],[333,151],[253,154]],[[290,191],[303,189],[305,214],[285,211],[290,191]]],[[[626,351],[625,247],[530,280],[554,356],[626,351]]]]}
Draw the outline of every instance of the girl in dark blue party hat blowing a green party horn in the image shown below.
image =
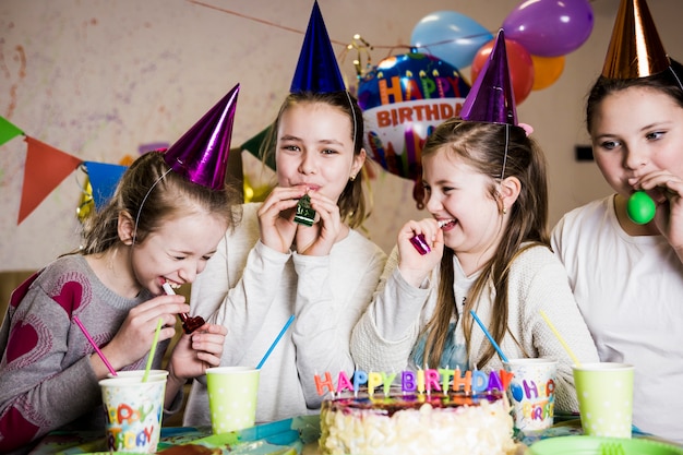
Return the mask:
{"type": "MultiPolygon", "coordinates": [[[[314,376],[354,371],[351,328],[372,298],[385,253],[356,228],[366,218],[363,119],[346,91],[317,3],[291,93],[266,141],[277,184],[243,206],[239,228],[192,286],[193,311],[228,327],[224,366],[261,368],[256,422],[315,414],[314,376]],[[269,145],[269,146],[268,146],[269,145]]],[[[184,424],[211,424],[194,381],[184,424]]]]}

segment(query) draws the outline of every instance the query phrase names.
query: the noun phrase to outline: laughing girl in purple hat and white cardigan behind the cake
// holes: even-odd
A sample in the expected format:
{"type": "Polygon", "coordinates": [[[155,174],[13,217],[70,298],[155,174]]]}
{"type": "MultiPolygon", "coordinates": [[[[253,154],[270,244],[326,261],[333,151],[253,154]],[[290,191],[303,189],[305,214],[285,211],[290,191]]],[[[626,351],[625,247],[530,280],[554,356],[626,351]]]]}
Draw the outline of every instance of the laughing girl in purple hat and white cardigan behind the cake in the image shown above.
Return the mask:
{"type": "Polygon", "coordinates": [[[400,229],[351,354],[366,371],[502,370],[474,310],[507,359],[556,360],[554,409],[576,411],[572,359],[541,310],[582,361],[598,355],[550,250],[546,161],[517,122],[502,29],[460,116],[424,144],[432,217],[400,229]]]}

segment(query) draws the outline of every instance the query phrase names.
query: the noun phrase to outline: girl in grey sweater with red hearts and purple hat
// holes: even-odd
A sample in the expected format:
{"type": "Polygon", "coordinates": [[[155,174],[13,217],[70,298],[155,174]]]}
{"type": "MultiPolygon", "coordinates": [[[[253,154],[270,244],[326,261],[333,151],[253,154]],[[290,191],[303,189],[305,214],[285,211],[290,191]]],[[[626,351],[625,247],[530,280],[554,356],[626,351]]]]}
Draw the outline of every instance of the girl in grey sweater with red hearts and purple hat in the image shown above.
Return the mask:
{"type": "MultiPolygon", "coordinates": [[[[60,428],[104,433],[98,381],[144,370],[159,321],[152,368],[161,368],[176,318],[190,310],[164,286],[194,282],[237,221],[239,192],[224,181],[238,92],[166,152],[139,157],[85,221],[80,250],[12,294],[0,328],[0,452],[28,452],[60,428]]],[[[166,367],[167,412],[180,408],[190,378],[219,363],[225,334],[203,324],[180,338],[166,367]]]]}

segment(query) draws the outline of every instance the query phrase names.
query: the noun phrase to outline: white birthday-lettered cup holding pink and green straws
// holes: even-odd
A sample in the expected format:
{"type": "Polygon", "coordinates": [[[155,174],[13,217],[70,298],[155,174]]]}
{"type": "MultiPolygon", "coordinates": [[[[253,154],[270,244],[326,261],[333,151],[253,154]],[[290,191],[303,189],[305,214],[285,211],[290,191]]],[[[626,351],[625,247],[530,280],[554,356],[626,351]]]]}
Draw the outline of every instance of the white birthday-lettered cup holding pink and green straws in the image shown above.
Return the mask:
{"type": "Polygon", "coordinates": [[[166,375],[119,375],[99,381],[111,452],[156,453],[161,433],[166,375]]]}

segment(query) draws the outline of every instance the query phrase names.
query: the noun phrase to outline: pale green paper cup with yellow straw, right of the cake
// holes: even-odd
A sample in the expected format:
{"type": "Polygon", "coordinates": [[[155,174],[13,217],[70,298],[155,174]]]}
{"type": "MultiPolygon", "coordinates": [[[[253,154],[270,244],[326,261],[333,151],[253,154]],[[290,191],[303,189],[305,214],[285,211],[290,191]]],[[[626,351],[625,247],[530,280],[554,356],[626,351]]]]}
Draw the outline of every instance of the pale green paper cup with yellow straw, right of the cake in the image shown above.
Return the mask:
{"type": "Polygon", "coordinates": [[[584,434],[631,438],[633,366],[599,362],[575,364],[572,369],[584,434]]]}

